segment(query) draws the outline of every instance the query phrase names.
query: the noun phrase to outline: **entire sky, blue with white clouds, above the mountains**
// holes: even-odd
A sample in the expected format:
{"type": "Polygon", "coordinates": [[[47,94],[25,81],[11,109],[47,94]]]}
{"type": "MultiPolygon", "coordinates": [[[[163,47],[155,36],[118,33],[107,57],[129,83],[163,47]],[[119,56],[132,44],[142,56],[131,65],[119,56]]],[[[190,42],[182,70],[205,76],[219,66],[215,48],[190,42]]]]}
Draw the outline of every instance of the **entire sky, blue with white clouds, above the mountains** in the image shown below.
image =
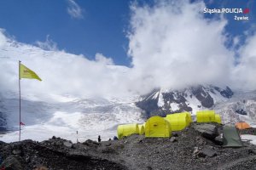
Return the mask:
{"type": "Polygon", "coordinates": [[[21,59],[43,79],[24,81],[27,94],[145,94],[196,84],[253,90],[255,5],[254,0],[3,0],[1,89],[15,91],[15,62],[21,59]],[[204,13],[222,8],[241,13],[204,13]]]}

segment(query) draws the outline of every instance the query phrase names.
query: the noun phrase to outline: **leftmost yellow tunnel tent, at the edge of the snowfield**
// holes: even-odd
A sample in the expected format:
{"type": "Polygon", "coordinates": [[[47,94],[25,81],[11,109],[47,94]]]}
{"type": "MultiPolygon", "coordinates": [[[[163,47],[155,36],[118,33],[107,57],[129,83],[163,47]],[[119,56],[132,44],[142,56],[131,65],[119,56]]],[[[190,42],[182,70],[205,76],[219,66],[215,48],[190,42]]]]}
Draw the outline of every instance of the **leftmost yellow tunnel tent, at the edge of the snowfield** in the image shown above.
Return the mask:
{"type": "Polygon", "coordinates": [[[139,133],[139,127],[137,123],[118,126],[119,139],[122,139],[125,136],[130,136],[131,134],[138,134],[138,133],[139,133]]]}

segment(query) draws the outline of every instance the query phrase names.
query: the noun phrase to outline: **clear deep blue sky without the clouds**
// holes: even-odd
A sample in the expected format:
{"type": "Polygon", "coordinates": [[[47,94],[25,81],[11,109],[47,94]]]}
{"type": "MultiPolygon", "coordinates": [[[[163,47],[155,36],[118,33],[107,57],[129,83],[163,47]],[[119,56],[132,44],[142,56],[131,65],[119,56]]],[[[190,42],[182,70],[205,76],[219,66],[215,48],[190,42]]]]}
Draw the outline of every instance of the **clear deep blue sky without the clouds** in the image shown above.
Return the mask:
{"type": "MultiPolygon", "coordinates": [[[[59,49],[72,54],[84,54],[94,59],[96,53],[111,57],[116,65],[130,65],[127,56],[130,26],[130,5],[125,0],[1,0],[0,28],[18,42],[35,44],[46,37],[56,42],[59,49]],[[67,11],[81,10],[79,16],[67,11]]],[[[154,4],[139,1],[139,4],[154,4]]],[[[245,37],[245,31],[255,30],[255,0],[206,1],[207,8],[249,8],[249,21],[234,20],[234,14],[225,14],[229,24],[226,31],[231,37],[245,37]]],[[[240,14],[242,15],[242,14],[240,14]]],[[[211,18],[213,15],[206,15],[211,18]]],[[[241,41],[242,42],[242,41],[241,41]]]]}

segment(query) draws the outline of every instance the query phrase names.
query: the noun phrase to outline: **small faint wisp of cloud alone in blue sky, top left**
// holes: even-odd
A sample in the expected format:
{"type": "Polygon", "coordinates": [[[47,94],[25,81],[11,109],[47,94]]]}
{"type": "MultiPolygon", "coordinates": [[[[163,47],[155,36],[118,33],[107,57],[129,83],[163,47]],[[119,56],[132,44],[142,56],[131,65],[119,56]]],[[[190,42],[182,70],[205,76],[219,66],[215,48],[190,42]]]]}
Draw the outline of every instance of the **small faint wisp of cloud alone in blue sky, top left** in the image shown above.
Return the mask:
{"type": "Polygon", "coordinates": [[[74,0],[67,0],[68,7],[67,7],[67,13],[70,14],[71,17],[74,19],[82,19],[83,16],[83,10],[79,7],[78,3],[76,3],[74,0]]]}

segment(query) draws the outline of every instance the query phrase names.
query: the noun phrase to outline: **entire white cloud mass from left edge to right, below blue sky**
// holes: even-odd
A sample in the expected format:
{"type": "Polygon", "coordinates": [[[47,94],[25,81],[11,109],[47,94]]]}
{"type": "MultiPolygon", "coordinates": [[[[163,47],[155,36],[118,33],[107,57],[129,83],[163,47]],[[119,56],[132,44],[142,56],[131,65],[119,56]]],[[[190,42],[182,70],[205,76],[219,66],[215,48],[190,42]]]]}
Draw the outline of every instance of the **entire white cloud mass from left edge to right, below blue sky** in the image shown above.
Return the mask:
{"type": "MultiPolygon", "coordinates": [[[[160,1],[152,7],[133,5],[128,35],[132,68],[114,65],[103,54],[96,54],[95,60],[67,54],[57,50],[49,37],[46,42],[38,42],[39,48],[15,42],[2,30],[1,92],[17,92],[19,59],[43,79],[22,80],[23,95],[120,97],[147,93],[153,88],[204,83],[255,89],[256,36],[236,50],[241,54],[236,65],[234,49],[224,46],[227,20],[205,19],[201,13],[204,7],[202,2],[185,0],[160,1]]],[[[235,38],[234,44],[238,40],[235,38]]]]}

